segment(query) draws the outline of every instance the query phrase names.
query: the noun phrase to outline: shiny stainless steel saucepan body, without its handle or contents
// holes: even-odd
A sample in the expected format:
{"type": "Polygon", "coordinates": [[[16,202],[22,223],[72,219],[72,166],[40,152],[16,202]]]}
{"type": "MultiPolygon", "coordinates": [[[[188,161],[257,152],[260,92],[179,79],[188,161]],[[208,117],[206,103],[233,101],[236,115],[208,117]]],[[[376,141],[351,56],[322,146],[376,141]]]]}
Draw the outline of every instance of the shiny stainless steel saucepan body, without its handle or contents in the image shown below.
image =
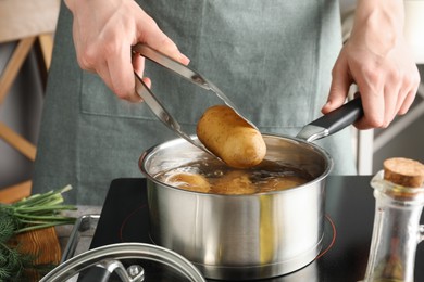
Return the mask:
{"type": "Polygon", "coordinates": [[[264,140],[265,159],[305,169],[314,180],[253,195],[189,192],[154,176],[210,156],[182,139],[147,151],[139,166],[148,178],[152,240],[213,279],[270,278],[310,264],[322,247],[324,187],[332,158],[300,139],[265,134],[264,140]]]}

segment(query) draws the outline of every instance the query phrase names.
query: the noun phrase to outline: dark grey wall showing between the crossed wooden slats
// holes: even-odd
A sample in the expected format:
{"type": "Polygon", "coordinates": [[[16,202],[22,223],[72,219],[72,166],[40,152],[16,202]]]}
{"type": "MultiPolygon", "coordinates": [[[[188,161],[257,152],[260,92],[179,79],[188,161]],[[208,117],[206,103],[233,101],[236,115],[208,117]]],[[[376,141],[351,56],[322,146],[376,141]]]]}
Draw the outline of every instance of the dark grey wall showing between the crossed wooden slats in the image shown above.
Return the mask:
{"type": "MultiPolygon", "coordinates": [[[[4,69],[14,46],[0,44],[0,69],[4,69]]],[[[37,74],[36,59],[30,53],[0,105],[0,121],[33,143],[37,140],[43,92],[37,74]]],[[[32,162],[0,139],[0,188],[29,179],[32,169],[32,162]]]]}

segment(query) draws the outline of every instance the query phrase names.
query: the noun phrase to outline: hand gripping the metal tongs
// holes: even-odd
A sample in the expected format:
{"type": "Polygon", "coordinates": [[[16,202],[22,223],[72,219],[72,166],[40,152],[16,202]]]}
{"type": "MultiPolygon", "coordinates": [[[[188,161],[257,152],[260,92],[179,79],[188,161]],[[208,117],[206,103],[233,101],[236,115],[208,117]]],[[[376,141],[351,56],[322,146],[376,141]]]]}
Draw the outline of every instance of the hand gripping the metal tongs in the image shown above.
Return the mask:
{"type": "MultiPolygon", "coordinates": [[[[142,42],[188,64],[189,60],[134,0],[65,0],[74,15],[73,38],[78,64],[97,73],[121,99],[137,102],[134,70],[142,77],[145,61],[132,54],[142,42]]],[[[144,81],[150,86],[149,78],[144,81]]]]}

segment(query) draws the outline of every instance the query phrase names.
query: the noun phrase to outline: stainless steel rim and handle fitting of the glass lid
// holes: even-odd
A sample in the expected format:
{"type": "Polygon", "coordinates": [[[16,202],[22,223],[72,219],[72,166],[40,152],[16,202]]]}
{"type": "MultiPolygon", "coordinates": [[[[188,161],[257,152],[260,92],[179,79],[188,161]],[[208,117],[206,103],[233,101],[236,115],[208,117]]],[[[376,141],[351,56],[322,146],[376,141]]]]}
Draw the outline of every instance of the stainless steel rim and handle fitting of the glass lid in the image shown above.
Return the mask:
{"type": "MultiPolygon", "coordinates": [[[[197,270],[192,264],[170,249],[144,243],[120,243],[93,248],[75,256],[54,268],[47,275],[45,275],[40,282],[66,281],[67,279],[73,278],[75,274],[78,274],[80,271],[91,266],[98,265],[100,261],[111,261],[128,258],[147,259],[164,264],[186,277],[187,281],[204,281],[199,270],[197,270]]],[[[113,264],[113,267],[116,267],[116,264],[113,264]]],[[[123,271],[125,270],[122,270],[121,274],[124,273],[123,271]]],[[[123,275],[125,277],[125,274],[123,275]]],[[[129,278],[128,275],[128,279],[129,280],[127,281],[139,281],[137,280],[139,279],[139,275],[136,278],[129,278]]]]}

